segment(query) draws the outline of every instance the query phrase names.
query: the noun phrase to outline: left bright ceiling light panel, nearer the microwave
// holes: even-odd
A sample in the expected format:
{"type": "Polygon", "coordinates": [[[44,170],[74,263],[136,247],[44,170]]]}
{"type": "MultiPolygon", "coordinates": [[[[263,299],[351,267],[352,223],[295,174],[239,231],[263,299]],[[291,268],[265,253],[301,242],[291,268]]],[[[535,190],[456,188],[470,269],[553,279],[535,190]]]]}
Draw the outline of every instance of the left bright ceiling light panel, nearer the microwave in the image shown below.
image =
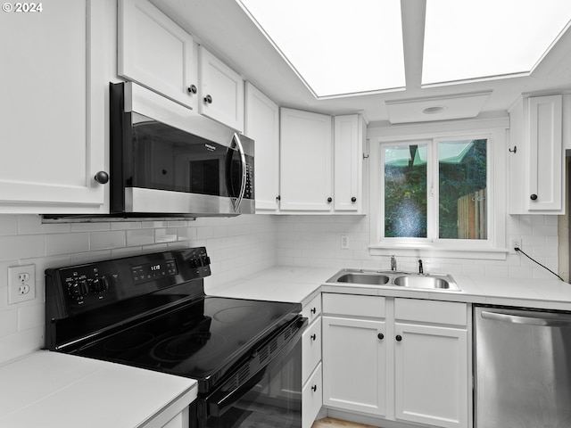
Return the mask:
{"type": "Polygon", "coordinates": [[[400,0],[236,0],[317,97],[405,86],[400,0]]]}

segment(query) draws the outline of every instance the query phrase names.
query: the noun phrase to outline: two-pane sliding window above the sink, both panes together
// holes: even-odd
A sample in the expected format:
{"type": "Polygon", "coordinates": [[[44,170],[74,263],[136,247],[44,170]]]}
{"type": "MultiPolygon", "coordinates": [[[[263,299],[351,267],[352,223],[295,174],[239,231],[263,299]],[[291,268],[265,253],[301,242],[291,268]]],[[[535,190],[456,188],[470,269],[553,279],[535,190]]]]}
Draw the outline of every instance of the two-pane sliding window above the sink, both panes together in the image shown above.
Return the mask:
{"type": "Polygon", "coordinates": [[[487,141],[383,144],[384,237],[487,239],[487,141]]]}

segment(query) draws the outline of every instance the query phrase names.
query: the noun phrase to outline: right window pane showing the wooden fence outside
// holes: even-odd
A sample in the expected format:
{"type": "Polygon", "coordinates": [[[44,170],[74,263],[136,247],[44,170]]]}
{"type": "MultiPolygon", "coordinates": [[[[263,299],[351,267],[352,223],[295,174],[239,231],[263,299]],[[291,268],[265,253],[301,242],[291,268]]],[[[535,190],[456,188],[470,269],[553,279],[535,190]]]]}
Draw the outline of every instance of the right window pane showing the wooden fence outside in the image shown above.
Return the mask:
{"type": "Polygon", "coordinates": [[[487,140],[438,144],[441,239],[487,239],[487,140]]]}

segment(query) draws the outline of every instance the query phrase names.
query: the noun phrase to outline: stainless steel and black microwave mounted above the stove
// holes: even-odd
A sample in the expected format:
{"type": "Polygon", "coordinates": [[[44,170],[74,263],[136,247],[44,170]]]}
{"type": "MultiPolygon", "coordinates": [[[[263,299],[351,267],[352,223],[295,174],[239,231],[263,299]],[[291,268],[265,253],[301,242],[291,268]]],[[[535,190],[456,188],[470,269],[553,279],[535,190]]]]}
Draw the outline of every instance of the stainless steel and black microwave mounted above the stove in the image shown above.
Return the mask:
{"type": "Polygon", "coordinates": [[[253,141],[138,86],[110,84],[111,214],[253,213],[253,141]]]}

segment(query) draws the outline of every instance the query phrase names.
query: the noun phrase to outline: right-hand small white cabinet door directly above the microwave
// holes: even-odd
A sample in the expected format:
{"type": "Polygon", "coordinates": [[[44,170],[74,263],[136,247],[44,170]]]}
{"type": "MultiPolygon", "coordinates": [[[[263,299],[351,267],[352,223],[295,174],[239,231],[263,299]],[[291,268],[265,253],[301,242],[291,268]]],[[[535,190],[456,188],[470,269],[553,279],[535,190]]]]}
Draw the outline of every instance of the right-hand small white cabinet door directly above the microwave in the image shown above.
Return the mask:
{"type": "Polygon", "coordinates": [[[244,80],[236,71],[199,46],[200,112],[244,132],[244,80]]]}

